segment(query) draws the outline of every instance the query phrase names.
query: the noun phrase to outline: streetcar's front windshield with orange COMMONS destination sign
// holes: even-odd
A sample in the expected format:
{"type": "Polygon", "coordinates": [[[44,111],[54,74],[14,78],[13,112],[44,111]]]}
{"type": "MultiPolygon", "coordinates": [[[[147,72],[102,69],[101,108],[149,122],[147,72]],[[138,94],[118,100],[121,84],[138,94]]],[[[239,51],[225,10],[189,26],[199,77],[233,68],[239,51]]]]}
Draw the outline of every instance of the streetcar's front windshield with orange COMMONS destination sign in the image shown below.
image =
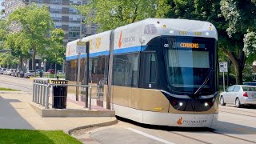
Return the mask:
{"type": "Polygon", "coordinates": [[[165,38],[162,40],[170,89],[194,93],[210,74],[202,92],[214,86],[214,41],[165,38]]]}

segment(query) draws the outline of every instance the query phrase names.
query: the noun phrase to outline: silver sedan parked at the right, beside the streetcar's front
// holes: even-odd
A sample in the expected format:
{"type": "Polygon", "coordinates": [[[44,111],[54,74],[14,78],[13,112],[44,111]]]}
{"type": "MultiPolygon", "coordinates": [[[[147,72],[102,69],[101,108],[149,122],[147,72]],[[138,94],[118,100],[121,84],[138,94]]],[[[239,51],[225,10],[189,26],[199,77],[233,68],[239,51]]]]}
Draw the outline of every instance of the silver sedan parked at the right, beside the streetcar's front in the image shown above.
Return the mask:
{"type": "Polygon", "coordinates": [[[220,94],[220,103],[234,104],[237,107],[242,105],[256,105],[256,86],[234,85],[227,88],[220,94]]]}

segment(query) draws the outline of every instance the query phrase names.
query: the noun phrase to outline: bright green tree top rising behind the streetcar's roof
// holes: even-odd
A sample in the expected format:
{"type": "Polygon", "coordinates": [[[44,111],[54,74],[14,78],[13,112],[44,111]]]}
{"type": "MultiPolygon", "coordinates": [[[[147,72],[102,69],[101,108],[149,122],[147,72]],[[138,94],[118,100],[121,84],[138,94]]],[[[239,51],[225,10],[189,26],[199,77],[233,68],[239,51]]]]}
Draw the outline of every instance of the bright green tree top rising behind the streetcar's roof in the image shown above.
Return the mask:
{"type": "Polygon", "coordinates": [[[145,18],[163,18],[170,8],[167,0],[91,0],[75,7],[86,16],[86,24],[98,25],[98,32],[145,18]]]}

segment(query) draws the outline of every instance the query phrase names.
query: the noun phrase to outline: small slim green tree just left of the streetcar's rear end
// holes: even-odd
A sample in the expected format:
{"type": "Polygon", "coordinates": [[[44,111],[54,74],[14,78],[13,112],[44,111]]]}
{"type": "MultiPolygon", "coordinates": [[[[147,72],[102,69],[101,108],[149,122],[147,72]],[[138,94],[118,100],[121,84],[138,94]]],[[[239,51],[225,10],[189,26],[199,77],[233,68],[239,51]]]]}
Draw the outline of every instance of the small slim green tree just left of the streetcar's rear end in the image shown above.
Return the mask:
{"type": "Polygon", "coordinates": [[[65,56],[65,47],[63,46],[64,30],[54,29],[50,34],[50,49],[47,50],[47,61],[55,63],[55,74],[57,64],[62,64],[65,56]]]}

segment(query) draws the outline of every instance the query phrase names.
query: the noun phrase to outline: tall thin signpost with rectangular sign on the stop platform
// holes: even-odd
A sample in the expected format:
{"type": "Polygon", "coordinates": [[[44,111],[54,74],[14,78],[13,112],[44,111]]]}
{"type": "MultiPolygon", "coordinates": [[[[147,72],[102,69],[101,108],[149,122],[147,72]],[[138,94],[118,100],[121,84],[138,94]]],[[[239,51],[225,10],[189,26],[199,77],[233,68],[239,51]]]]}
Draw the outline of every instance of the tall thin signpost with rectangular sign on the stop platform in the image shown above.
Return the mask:
{"type": "MultiPolygon", "coordinates": [[[[81,54],[86,54],[86,42],[77,42],[77,54],[78,54],[78,75],[77,75],[77,85],[80,82],[80,62],[81,62],[81,54]]],[[[79,87],[76,87],[75,99],[78,101],[79,87]]]]}

